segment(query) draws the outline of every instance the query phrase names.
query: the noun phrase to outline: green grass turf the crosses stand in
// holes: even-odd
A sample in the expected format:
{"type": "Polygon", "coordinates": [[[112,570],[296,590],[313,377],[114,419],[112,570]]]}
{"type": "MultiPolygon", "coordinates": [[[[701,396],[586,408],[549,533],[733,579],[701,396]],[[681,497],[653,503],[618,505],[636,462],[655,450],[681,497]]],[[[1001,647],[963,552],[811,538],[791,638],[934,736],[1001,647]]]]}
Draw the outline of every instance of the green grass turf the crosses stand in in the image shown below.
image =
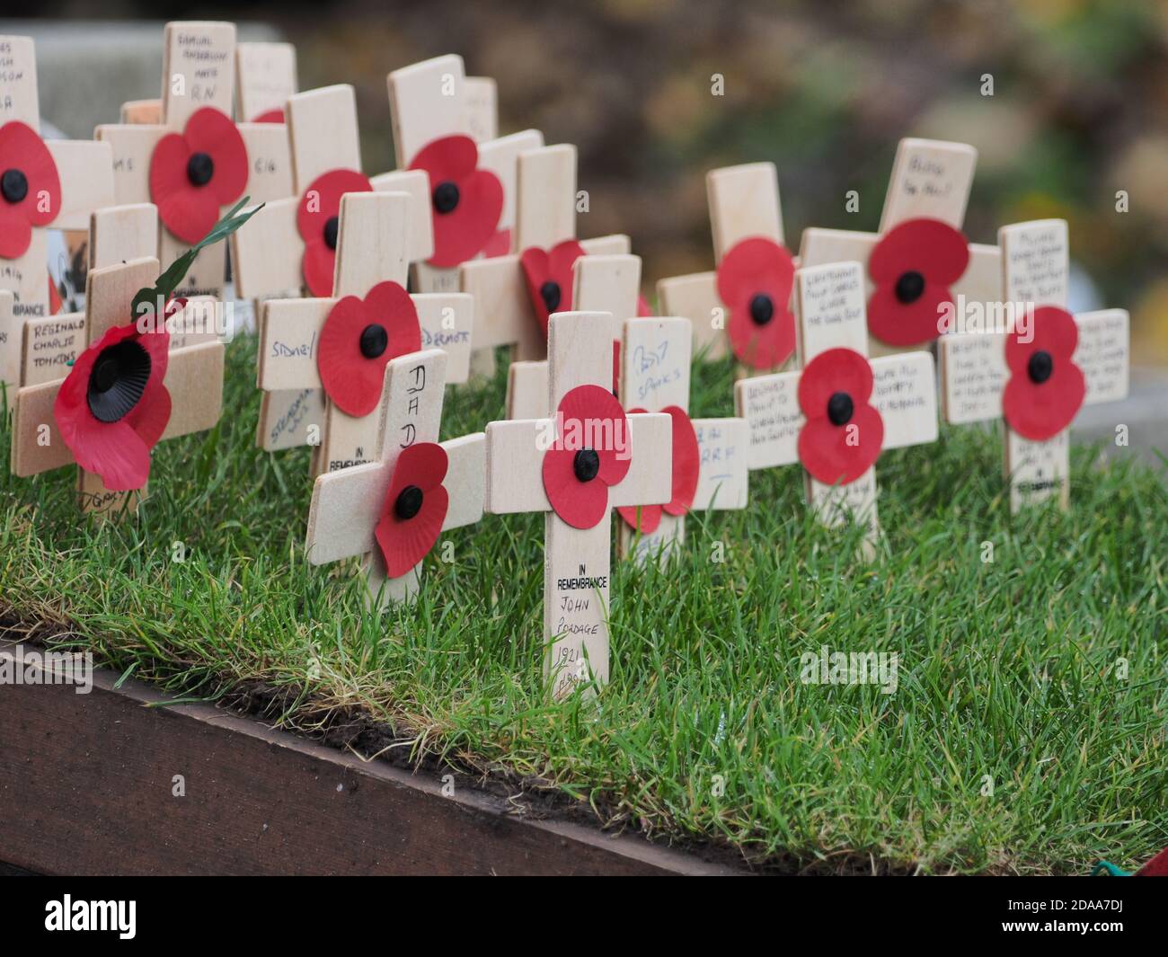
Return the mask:
{"type": "MultiPolygon", "coordinates": [[[[287,727],[362,714],[415,757],[780,867],[1085,873],[1168,842],[1162,469],[1076,448],[1070,511],[1011,518],[1000,436],[945,429],[882,459],[871,563],[808,518],[798,470],[755,473],[748,511],[690,516],[677,564],[614,568],[611,685],[549,703],[541,519],[449,535],[416,605],[364,611],[355,562],[304,560],[307,450],[253,448],[253,349],[229,348],[218,428],[158,450],[137,520],[81,518],[71,469],[0,460],[0,613],[172,691],[260,682],[287,727]],[[800,682],[821,645],[897,652],[896,693],[800,682]]],[[[729,366],[695,375],[694,412],[729,414],[729,366]]],[[[501,375],[451,391],[445,435],[501,408],[501,375]]]]}

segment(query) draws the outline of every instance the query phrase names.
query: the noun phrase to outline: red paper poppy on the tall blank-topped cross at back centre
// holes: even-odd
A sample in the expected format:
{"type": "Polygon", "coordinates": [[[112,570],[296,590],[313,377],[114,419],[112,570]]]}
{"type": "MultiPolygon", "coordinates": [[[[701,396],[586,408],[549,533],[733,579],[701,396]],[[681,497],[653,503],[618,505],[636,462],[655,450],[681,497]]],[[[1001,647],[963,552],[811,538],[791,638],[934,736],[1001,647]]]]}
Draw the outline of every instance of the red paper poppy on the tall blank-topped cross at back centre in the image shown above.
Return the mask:
{"type": "MultiPolygon", "coordinates": [[[[470,137],[442,137],[423,146],[411,169],[430,176],[434,255],[427,261],[450,269],[478,256],[494,237],[503,211],[503,185],[479,169],[479,147],[470,137]]],[[[508,241],[509,242],[509,241],[508,241]]]]}

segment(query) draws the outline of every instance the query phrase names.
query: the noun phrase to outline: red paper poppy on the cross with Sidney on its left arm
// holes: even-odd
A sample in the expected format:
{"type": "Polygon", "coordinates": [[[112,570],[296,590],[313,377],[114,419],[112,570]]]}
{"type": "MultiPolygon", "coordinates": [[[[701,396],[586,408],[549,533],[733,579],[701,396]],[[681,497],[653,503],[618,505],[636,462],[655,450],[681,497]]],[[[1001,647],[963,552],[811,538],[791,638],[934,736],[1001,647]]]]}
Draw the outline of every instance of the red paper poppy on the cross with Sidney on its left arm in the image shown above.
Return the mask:
{"type": "Polygon", "coordinates": [[[413,300],[397,283],[377,283],[364,299],[346,296],[333,306],[320,331],[317,369],[342,412],[364,416],[381,402],[389,360],[420,348],[413,300]]]}

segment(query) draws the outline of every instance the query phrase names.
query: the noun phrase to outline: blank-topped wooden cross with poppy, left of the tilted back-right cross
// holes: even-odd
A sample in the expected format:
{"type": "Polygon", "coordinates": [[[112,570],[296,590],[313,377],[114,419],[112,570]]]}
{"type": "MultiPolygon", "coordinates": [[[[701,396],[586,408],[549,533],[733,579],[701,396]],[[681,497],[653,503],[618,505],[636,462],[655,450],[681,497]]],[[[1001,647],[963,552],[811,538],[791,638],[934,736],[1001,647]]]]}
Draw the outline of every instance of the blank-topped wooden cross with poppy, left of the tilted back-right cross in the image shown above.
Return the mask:
{"type": "Polygon", "coordinates": [[[773,162],[711,169],[705,174],[705,194],[715,271],[658,280],[661,312],[691,321],[694,349],[707,360],[732,353],[739,374],[749,375],[781,368],[794,356],[790,311],[794,262],[784,241],[778,171],[773,162]],[[730,280],[734,272],[743,272],[736,265],[743,257],[749,268],[742,278],[752,276],[753,284],[749,294],[739,297],[730,280]]]}

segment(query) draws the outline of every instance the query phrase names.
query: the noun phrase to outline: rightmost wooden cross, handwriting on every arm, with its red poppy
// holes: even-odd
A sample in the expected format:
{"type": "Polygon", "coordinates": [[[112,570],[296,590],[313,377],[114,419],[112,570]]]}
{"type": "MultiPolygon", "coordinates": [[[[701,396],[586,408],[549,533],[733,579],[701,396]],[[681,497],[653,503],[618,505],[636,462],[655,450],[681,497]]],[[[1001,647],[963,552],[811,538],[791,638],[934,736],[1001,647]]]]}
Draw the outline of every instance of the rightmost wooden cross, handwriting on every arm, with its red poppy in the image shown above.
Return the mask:
{"type": "Polygon", "coordinates": [[[1004,417],[1004,465],[1013,512],[1052,497],[1065,508],[1070,499],[1069,427],[1075,412],[1079,404],[1097,405],[1127,396],[1128,314],[1110,308],[1070,319],[1064,220],[1002,227],[997,244],[1003,306],[987,313],[980,327],[962,327],[941,337],[941,408],[946,422],[954,424],[1004,417]],[[1056,310],[1066,318],[1051,315],[1056,310]],[[1011,349],[1020,356],[1013,369],[1011,349]],[[1064,382],[1071,391],[1078,388],[1077,395],[1055,393],[1064,382]],[[1028,422],[1035,411],[1047,421],[1028,422]],[[1049,419],[1049,414],[1058,421],[1049,419]],[[1028,438],[1011,428],[1015,416],[1020,428],[1045,437],[1028,438]],[[1034,432],[1036,428],[1041,432],[1034,432]]]}

